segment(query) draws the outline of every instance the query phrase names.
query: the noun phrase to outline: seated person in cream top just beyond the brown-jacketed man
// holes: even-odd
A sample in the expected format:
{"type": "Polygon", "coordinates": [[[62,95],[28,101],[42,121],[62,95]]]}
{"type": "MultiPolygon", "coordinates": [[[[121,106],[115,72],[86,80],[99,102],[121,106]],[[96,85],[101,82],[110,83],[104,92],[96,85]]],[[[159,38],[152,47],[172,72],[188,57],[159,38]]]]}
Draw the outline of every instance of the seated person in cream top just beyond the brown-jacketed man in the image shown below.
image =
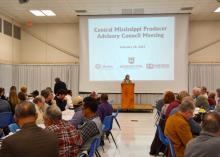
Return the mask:
{"type": "Polygon", "coordinates": [[[37,120],[36,123],[37,124],[43,124],[44,123],[44,112],[46,111],[46,108],[48,106],[46,106],[44,98],[42,96],[37,96],[36,98],[34,98],[33,103],[35,104],[35,109],[37,112],[37,120]]]}

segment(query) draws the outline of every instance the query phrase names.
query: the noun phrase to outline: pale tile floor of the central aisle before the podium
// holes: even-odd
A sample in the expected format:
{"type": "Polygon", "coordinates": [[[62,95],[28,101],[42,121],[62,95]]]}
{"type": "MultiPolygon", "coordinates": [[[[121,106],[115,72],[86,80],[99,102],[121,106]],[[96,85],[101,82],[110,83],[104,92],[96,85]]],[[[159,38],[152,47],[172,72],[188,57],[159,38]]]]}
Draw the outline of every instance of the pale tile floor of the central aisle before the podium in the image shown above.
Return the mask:
{"type": "Polygon", "coordinates": [[[118,149],[112,138],[110,143],[105,140],[105,151],[99,149],[102,157],[150,157],[149,150],[155,134],[154,113],[119,113],[118,121],[113,122],[112,133],[118,149]]]}

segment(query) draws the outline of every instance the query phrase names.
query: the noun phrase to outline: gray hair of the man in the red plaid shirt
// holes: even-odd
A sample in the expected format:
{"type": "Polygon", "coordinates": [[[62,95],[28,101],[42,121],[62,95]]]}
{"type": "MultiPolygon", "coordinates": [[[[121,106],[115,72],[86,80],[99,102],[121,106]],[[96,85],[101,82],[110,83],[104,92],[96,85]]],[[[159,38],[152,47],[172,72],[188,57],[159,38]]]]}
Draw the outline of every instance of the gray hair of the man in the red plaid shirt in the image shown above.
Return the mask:
{"type": "Polygon", "coordinates": [[[62,119],[62,112],[57,106],[51,105],[47,107],[45,116],[50,120],[57,121],[62,119]]]}

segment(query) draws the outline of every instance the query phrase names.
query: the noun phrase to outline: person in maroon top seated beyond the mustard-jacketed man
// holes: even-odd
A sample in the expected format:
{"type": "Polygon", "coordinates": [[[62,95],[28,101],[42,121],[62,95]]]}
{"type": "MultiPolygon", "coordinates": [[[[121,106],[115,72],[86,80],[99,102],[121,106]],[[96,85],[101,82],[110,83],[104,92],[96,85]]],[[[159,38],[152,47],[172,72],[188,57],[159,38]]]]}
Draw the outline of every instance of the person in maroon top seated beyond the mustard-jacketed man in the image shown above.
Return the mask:
{"type": "Polygon", "coordinates": [[[182,102],[183,98],[186,97],[186,96],[189,96],[189,93],[187,91],[181,91],[177,94],[176,96],[176,100],[174,100],[173,102],[170,103],[170,105],[167,107],[167,110],[166,110],[166,118],[169,117],[170,115],[170,112],[178,107],[180,105],[180,103],[182,102]]]}

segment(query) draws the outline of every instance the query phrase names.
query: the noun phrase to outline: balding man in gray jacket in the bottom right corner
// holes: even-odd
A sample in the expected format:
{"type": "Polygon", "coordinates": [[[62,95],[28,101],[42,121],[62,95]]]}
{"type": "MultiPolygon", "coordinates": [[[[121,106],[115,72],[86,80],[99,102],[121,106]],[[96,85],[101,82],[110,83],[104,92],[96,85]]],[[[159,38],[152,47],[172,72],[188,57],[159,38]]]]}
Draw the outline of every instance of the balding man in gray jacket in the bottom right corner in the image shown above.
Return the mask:
{"type": "Polygon", "coordinates": [[[220,115],[207,113],[202,132],[186,146],[185,157],[217,157],[220,155],[220,115]]]}

